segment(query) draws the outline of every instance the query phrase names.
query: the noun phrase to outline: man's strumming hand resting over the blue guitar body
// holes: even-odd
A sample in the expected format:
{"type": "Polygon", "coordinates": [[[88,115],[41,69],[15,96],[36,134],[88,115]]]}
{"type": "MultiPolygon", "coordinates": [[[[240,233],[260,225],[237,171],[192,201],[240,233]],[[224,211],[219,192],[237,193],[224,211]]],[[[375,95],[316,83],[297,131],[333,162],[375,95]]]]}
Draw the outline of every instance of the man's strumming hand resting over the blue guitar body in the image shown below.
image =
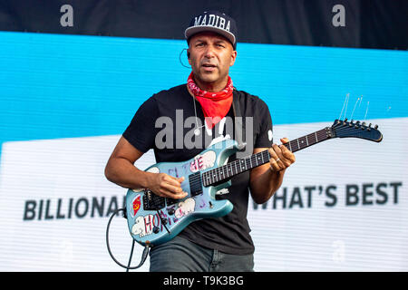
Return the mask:
{"type": "Polygon", "coordinates": [[[174,178],[166,173],[151,173],[148,179],[148,189],[160,197],[179,199],[187,196],[187,192],[181,189],[184,177],[174,178]]]}

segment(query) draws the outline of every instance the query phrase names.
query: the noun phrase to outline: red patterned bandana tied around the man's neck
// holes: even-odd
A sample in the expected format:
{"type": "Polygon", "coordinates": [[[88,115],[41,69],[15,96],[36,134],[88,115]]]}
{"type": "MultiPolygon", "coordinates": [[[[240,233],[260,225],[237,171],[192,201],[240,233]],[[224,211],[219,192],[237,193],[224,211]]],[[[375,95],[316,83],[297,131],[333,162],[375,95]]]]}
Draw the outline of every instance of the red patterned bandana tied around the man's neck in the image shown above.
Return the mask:
{"type": "Polygon", "coordinates": [[[231,78],[228,76],[227,86],[221,92],[201,90],[196,82],[194,82],[192,72],[187,79],[187,85],[189,91],[192,92],[194,97],[201,104],[204,117],[211,117],[211,119],[206,118],[206,123],[207,127],[212,129],[215,124],[228,114],[229,108],[231,108],[233,92],[231,78]]]}

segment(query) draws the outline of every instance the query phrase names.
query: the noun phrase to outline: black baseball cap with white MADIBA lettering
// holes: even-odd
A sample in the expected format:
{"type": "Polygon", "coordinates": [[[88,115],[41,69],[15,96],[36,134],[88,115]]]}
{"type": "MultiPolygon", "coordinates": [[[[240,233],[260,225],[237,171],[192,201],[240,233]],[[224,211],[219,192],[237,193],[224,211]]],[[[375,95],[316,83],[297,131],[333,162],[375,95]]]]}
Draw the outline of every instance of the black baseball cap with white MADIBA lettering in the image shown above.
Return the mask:
{"type": "Polygon", "coordinates": [[[220,13],[219,11],[205,11],[191,19],[189,27],[184,32],[184,36],[189,42],[189,38],[200,32],[211,31],[217,34],[221,34],[226,37],[234,50],[237,50],[237,24],[233,18],[227,14],[220,13]]]}

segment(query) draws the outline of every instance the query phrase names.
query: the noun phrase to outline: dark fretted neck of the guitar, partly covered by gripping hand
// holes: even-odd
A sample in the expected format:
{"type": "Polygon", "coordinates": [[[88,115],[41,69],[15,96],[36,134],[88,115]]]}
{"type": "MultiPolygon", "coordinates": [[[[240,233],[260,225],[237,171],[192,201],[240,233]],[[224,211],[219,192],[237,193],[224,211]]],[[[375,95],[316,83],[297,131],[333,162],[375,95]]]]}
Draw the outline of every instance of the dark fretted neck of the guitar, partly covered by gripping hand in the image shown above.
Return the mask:
{"type": "MultiPolygon", "coordinates": [[[[288,150],[296,152],[298,150],[303,150],[309,146],[315,145],[319,142],[328,140],[333,137],[334,136],[331,128],[326,127],[325,129],[322,129],[320,131],[316,131],[295,140],[290,140],[283,145],[285,145],[288,150]]],[[[263,150],[245,159],[234,160],[227,163],[226,165],[220,166],[217,169],[206,171],[202,174],[201,177],[203,185],[205,187],[208,187],[219,182],[224,182],[242,172],[248,171],[269,162],[270,158],[271,157],[269,151],[263,150]]]]}

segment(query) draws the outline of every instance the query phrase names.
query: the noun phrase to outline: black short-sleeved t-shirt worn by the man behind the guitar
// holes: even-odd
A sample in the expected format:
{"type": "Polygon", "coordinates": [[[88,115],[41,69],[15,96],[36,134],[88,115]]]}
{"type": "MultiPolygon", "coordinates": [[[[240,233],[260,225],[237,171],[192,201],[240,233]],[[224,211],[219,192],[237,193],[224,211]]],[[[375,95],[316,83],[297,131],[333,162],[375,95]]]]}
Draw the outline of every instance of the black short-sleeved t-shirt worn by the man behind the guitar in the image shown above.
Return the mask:
{"type": "MultiPolygon", "coordinates": [[[[248,152],[248,155],[238,158],[251,155],[254,148],[270,147],[272,120],[267,104],[257,96],[242,91],[234,90],[234,98],[238,98],[242,123],[246,124],[243,139],[247,142],[245,152],[248,152]]],[[[123,137],[142,152],[153,149],[156,162],[180,162],[197,156],[214,139],[222,140],[226,137],[234,139],[234,121],[228,122],[234,120],[233,118],[231,106],[226,118],[219,121],[212,130],[201,127],[204,124],[202,108],[189,94],[187,85],[182,84],[168,91],[156,93],[144,102],[123,132],[123,137]],[[200,127],[199,135],[194,134],[197,127],[200,127]],[[232,130],[228,130],[230,128],[232,130]],[[194,143],[194,147],[191,146],[191,142],[194,143]]],[[[242,152],[230,156],[228,162],[235,160],[238,154],[242,152]]],[[[234,205],[227,216],[194,221],[179,235],[200,246],[218,249],[228,254],[252,254],[254,244],[249,235],[247,220],[248,197],[247,171],[232,178],[231,186],[219,191],[217,195],[217,199],[227,198],[234,205]]]]}

